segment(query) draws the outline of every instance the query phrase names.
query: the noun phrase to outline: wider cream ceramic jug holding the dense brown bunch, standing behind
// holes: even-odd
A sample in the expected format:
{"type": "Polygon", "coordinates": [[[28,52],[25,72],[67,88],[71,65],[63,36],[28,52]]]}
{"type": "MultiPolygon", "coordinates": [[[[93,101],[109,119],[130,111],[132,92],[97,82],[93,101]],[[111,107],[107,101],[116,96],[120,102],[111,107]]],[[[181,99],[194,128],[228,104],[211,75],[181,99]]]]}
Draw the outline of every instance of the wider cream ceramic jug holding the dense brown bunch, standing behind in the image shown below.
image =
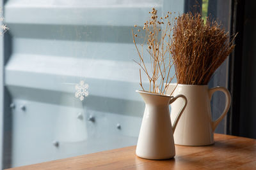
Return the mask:
{"type": "MultiPolygon", "coordinates": [[[[225,87],[209,89],[207,85],[177,85],[170,84],[167,94],[182,94],[188,99],[182,117],[180,117],[177,129],[174,133],[174,141],[177,145],[203,146],[214,143],[213,133],[217,125],[225,117],[230,108],[230,93],[225,87]],[[221,91],[226,96],[225,109],[216,121],[211,117],[211,97],[216,91],[221,91]]],[[[177,100],[171,104],[171,119],[177,116],[177,111],[182,106],[182,101],[177,100]]],[[[174,123],[174,122],[173,122],[174,123]]]]}

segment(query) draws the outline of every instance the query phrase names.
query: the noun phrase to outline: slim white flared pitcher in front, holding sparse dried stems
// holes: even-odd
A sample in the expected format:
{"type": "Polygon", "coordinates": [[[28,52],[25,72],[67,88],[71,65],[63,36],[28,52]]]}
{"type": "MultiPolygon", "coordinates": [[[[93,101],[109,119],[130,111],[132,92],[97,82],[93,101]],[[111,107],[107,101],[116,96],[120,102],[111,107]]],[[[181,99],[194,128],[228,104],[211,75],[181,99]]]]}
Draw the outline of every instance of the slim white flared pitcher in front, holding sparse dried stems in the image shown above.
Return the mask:
{"type": "Polygon", "coordinates": [[[137,90],[145,101],[145,112],[140,128],[136,155],[145,159],[170,159],[175,156],[173,132],[180,116],[186,108],[187,99],[183,95],[163,96],[137,90]],[[170,120],[169,104],[182,97],[182,105],[177,112],[173,126],[170,120]]]}

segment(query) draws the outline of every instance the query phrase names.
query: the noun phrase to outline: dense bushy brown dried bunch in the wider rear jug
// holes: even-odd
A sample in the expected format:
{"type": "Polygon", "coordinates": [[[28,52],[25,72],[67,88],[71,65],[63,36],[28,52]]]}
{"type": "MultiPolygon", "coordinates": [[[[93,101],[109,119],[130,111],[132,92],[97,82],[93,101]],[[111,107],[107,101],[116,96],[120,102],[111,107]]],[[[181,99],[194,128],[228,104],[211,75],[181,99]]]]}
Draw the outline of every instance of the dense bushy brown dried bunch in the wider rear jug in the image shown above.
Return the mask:
{"type": "MultiPolygon", "coordinates": [[[[234,36],[234,38],[236,35],[234,36]]],[[[184,13],[175,21],[172,57],[180,84],[207,85],[212,74],[234,49],[228,32],[199,13],[184,13]]]]}

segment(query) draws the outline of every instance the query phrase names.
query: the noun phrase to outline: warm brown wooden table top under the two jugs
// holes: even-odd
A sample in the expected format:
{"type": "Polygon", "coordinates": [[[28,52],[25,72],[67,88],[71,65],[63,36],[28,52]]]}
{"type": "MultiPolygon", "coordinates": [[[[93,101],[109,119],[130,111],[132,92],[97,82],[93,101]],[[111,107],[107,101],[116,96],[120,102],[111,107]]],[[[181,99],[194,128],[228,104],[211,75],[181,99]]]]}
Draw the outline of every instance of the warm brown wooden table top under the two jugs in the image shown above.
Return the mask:
{"type": "Polygon", "coordinates": [[[53,160],[13,169],[256,169],[256,140],[214,134],[211,146],[175,145],[169,160],[137,157],[136,146],[53,160]]]}

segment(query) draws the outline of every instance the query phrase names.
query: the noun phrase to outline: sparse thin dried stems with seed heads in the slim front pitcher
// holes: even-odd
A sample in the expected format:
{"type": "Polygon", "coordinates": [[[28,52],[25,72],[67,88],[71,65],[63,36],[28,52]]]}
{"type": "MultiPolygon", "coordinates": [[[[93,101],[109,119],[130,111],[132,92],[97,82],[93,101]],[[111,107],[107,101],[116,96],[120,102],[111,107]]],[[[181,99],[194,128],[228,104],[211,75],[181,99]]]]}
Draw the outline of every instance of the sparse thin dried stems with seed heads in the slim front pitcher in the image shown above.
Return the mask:
{"type": "MultiPolygon", "coordinates": [[[[158,18],[157,10],[152,8],[150,19],[144,23],[143,30],[138,29],[136,32],[132,29],[133,42],[139,55],[139,61],[134,60],[140,66],[140,86],[143,91],[141,81],[141,69],[147,75],[149,81],[148,92],[164,94],[168,84],[173,80],[175,74],[171,76],[173,66],[170,49],[172,46],[171,32],[173,29],[173,20],[170,19],[172,13],[168,12],[165,17],[158,18]],[[141,33],[142,32],[142,33],[141,33]],[[142,39],[140,46],[137,45],[138,39],[142,39]],[[144,46],[147,45],[147,46],[144,46]],[[150,65],[147,67],[143,57],[143,46],[147,49],[150,56],[150,65]],[[141,47],[139,50],[139,47],[141,47]]],[[[177,19],[177,18],[175,18],[177,19]]]]}

